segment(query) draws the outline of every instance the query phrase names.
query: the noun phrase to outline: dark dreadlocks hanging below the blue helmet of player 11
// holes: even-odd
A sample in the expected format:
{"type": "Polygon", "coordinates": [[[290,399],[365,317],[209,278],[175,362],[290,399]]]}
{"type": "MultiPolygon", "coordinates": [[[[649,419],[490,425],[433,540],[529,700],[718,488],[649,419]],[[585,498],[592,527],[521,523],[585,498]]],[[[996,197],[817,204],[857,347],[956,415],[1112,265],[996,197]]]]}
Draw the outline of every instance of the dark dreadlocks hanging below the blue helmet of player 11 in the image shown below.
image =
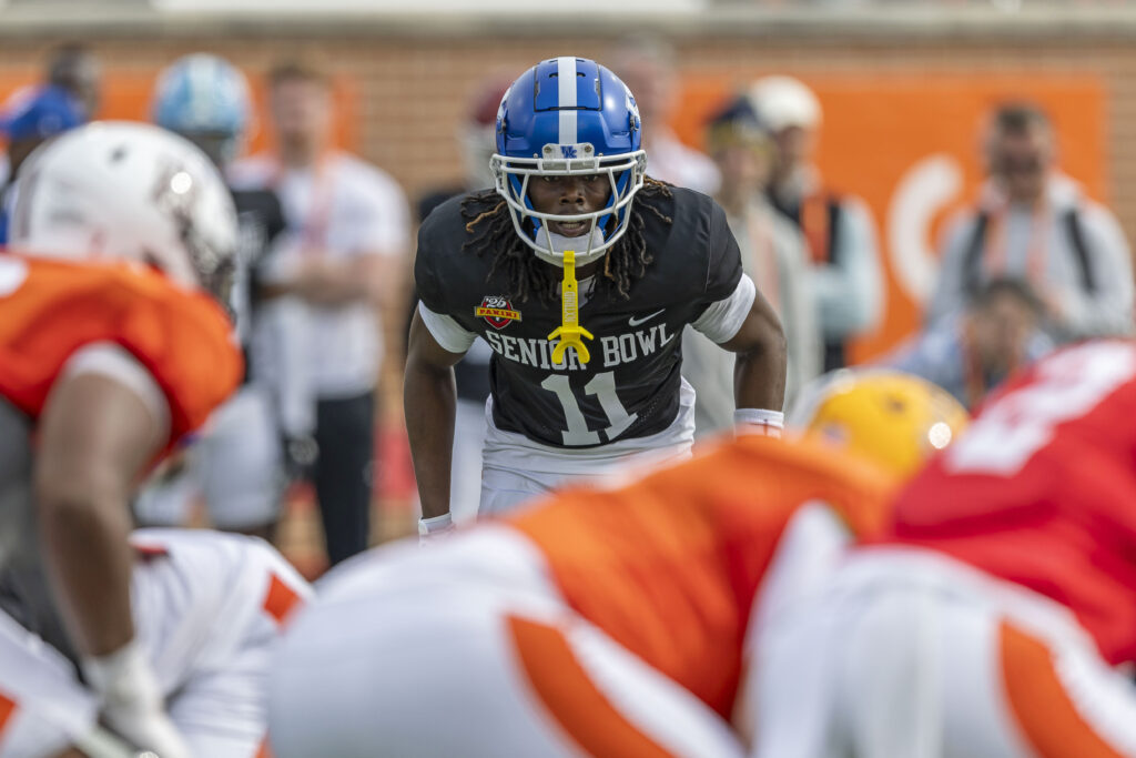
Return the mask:
{"type": "MultiPolygon", "coordinates": [[[[649,176],[635,197],[636,200],[669,198],[670,185],[649,176]]],[[[510,299],[526,302],[531,295],[535,295],[542,303],[554,300],[560,276],[556,267],[534,256],[532,248],[517,235],[512,218],[509,217],[512,211],[504,200],[500,200],[488,210],[478,210],[492,203],[494,198],[498,198],[495,190],[484,190],[462,199],[461,210],[467,219],[466,231],[471,236],[466,240],[461,249],[471,250],[478,256],[487,250],[493,251],[493,267],[485,278],[486,281],[492,278],[498,269],[506,272],[512,290],[509,293],[510,299]]],[[[648,265],[654,259],[648,252],[646,239],[643,236],[643,230],[646,227],[646,220],[643,218],[644,208],[662,223],[671,223],[670,217],[654,203],[633,201],[628,209],[627,232],[603,256],[603,268],[596,280],[595,295],[628,300],[632,284],[643,276],[648,265]]]]}

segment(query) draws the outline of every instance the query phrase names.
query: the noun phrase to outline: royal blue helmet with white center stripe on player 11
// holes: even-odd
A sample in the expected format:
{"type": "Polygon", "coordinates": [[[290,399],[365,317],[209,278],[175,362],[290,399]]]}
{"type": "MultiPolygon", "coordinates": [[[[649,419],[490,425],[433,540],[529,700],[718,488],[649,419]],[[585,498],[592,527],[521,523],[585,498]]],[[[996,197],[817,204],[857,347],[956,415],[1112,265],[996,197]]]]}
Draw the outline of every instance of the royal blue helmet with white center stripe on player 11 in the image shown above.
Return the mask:
{"type": "Polygon", "coordinates": [[[646,175],[642,135],[630,90],[594,60],[551,58],[512,83],[498,110],[496,153],[490,167],[517,234],[537,257],[563,266],[562,251],[542,228],[545,222],[591,220],[591,234],[580,238],[587,240],[587,250],[575,251],[577,265],[599,259],[624,235],[632,200],[646,175]],[[529,180],[566,174],[607,174],[607,207],[575,216],[535,210],[529,180]]]}

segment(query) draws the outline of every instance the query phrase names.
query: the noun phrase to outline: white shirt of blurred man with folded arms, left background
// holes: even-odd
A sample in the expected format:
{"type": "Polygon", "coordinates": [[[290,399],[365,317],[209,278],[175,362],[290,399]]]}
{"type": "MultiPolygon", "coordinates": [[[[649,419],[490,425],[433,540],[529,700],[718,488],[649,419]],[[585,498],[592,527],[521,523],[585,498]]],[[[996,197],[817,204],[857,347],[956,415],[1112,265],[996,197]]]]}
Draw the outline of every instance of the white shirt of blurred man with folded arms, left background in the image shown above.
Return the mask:
{"type": "MultiPolygon", "coordinates": [[[[332,152],[311,168],[285,168],[270,156],[253,156],[229,170],[235,189],[273,189],[289,231],[298,241],[278,251],[350,258],[398,256],[409,250],[409,215],[402,189],[386,173],[344,152],[332,152]]],[[[274,267],[275,267],[274,266],[274,267]]],[[[366,302],[309,306],[308,370],[317,398],[348,398],[374,389],[382,356],[377,317],[366,302]]]]}

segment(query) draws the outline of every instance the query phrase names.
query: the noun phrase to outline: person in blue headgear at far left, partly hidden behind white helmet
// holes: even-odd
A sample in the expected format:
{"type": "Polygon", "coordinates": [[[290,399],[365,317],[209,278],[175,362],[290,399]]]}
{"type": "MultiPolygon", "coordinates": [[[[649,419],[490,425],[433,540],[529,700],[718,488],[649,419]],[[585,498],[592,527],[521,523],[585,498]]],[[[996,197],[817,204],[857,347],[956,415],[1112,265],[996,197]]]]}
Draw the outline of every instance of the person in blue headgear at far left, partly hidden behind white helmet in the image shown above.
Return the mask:
{"type": "Polygon", "coordinates": [[[80,103],[66,90],[43,86],[22,93],[0,117],[0,130],[8,140],[8,176],[0,188],[0,244],[8,241],[8,224],[16,203],[16,177],[32,151],[56,134],[83,123],[80,103]]]}

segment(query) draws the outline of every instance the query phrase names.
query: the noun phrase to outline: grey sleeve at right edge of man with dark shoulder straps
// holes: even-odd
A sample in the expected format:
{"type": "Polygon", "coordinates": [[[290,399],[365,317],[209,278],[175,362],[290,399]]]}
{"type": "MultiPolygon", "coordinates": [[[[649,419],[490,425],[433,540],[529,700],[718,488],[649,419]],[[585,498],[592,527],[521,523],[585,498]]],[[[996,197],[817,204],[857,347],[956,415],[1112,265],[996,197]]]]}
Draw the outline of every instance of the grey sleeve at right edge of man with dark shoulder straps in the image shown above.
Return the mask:
{"type": "Polygon", "coordinates": [[[1077,338],[1130,334],[1133,331],[1131,251],[1116,217],[1095,203],[1081,214],[1085,249],[1095,292],[1069,292],[1062,307],[1066,325],[1077,338]]]}

